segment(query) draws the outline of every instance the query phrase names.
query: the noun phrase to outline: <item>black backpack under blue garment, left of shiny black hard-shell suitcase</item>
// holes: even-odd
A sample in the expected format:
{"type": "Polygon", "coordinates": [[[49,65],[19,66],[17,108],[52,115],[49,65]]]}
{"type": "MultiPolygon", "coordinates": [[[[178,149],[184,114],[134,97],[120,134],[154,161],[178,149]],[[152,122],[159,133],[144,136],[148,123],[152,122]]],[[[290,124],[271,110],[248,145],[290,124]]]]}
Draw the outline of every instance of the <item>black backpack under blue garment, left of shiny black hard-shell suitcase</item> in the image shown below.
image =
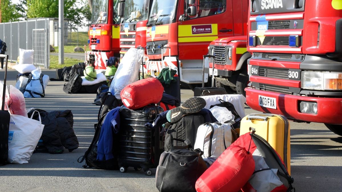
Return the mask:
{"type": "MultiPolygon", "coordinates": [[[[97,169],[108,169],[108,170],[117,170],[119,169],[118,166],[118,158],[116,157],[117,152],[113,151],[114,158],[110,160],[100,161],[97,160],[97,142],[100,138],[102,123],[105,119],[106,115],[103,115],[97,124],[95,124],[95,134],[93,137],[93,140],[88,148],[88,150],[84,153],[83,156],[80,156],[77,160],[77,162],[82,163],[84,160],[86,160],[86,163],[83,165],[84,168],[87,167],[94,167],[97,169]]],[[[113,140],[113,146],[118,146],[115,141],[118,141],[118,139],[113,140]]],[[[117,150],[117,147],[113,147],[113,150],[117,150]]]]}

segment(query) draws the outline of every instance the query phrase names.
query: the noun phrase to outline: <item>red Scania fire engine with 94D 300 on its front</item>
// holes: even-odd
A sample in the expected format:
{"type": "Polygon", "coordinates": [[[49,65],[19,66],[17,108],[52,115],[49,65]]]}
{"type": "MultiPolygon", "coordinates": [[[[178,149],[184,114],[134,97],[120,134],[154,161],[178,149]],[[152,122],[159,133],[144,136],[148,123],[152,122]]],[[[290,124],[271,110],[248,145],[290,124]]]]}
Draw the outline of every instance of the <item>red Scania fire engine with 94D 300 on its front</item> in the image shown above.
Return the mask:
{"type": "Polygon", "coordinates": [[[342,135],[341,0],[250,0],[247,104],[342,135]]]}

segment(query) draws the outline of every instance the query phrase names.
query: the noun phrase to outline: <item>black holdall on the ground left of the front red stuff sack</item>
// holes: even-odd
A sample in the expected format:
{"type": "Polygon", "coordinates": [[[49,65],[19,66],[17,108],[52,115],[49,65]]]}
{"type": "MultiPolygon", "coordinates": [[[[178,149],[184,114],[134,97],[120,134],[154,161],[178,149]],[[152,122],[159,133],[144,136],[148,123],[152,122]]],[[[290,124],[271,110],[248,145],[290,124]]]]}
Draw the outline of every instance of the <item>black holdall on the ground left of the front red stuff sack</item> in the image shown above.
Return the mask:
{"type": "Polygon", "coordinates": [[[203,151],[190,149],[190,141],[185,146],[171,147],[160,155],[156,172],[156,187],[159,191],[196,191],[197,179],[207,170],[202,159],[203,151]]]}

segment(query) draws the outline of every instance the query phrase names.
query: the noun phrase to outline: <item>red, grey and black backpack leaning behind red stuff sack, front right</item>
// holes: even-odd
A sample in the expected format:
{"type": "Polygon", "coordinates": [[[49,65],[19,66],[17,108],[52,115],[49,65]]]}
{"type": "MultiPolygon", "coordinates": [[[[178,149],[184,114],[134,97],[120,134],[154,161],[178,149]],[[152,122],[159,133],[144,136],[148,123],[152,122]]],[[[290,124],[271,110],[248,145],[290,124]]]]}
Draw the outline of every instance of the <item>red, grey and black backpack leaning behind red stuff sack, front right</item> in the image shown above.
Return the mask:
{"type": "Polygon", "coordinates": [[[242,187],[243,192],[286,192],[293,188],[293,178],[289,175],[284,162],[265,139],[256,134],[246,133],[231,146],[250,146],[249,151],[253,155],[255,170],[242,187]]]}

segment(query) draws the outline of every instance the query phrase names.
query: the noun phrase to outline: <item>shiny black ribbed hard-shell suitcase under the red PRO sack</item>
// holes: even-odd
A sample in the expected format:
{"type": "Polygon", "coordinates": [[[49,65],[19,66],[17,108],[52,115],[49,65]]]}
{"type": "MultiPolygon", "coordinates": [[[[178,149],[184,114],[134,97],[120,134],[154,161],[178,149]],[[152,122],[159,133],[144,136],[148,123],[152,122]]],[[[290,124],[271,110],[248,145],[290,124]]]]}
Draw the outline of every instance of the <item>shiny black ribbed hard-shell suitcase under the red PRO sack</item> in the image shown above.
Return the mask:
{"type": "Polygon", "coordinates": [[[135,170],[143,169],[150,176],[152,171],[149,168],[158,166],[160,154],[164,151],[161,129],[151,130],[144,125],[161,112],[163,109],[156,105],[136,110],[121,107],[118,146],[120,172],[126,172],[127,167],[134,167],[135,170]]]}

